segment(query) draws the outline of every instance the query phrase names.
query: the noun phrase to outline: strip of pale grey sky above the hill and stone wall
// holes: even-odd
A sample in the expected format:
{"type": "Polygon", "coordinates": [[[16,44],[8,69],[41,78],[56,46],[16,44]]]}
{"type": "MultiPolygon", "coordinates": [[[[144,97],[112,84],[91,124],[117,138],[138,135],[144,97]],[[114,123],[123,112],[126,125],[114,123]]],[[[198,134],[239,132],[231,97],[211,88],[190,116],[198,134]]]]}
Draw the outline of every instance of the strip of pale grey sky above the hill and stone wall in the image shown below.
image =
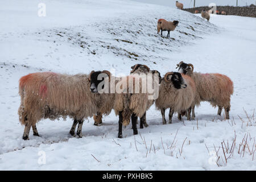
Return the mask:
{"type": "MultiPolygon", "coordinates": [[[[137,2],[146,2],[156,5],[166,5],[175,7],[176,0],[133,0],[137,2]]],[[[193,7],[194,0],[178,0],[183,3],[184,8],[193,7]]],[[[237,0],[196,0],[196,6],[208,6],[209,3],[216,3],[217,6],[236,6],[237,0]]],[[[238,6],[247,6],[256,3],[256,0],[238,0],[238,6]]]]}

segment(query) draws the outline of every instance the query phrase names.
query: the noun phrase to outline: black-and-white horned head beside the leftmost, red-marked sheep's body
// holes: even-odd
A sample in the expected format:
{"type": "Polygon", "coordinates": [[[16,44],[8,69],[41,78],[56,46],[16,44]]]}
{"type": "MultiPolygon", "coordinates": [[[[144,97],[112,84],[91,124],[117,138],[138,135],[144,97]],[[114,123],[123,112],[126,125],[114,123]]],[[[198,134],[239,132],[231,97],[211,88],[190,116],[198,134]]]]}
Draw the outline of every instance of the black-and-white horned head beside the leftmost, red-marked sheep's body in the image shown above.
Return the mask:
{"type": "Polygon", "coordinates": [[[110,72],[109,71],[102,71],[102,72],[101,71],[97,71],[97,72],[92,71],[88,78],[88,80],[90,81],[90,92],[98,93],[102,89],[104,89],[104,82],[102,82],[102,81],[104,81],[104,79],[106,77],[109,77],[109,80],[110,80],[110,72]],[[100,88],[98,88],[98,86],[100,86],[100,88]]]}

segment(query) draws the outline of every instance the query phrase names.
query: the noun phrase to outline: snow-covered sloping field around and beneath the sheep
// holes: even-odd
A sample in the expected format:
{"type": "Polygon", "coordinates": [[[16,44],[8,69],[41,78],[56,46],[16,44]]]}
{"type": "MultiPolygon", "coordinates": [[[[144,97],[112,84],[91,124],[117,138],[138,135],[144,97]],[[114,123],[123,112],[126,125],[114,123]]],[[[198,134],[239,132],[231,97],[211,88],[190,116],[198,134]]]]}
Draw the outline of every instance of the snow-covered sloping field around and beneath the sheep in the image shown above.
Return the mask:
{"type": "Polygon", "coordinates": [[[255,18],[216,15],[208,23],[200,15],[125,0],[44,1],[46,16],[39,17],[38,3],[0,2],[0,169],[256,169],[255,18]],[[159,18],[180,22],[168,39],[157,35],[159,18]],[[203,102],[196,108],[198,121],[179,122],[175,115],[172,124],[162,125],[153,105],[147,111],[150,126],[138,129],[139,135],[129,126],[117,138],[118,117],[112,112],[102,126],[94,126],[92,118],[85,121],[82,138],[69,135],[72,119],[46,119],[37,125],[41,137],[22,140],[21,76],[102,69],[129,75],[137,63],[164,75],[181,60],[197,72],[233,80],[232,119],[217,117],[217,109],[203,102]]]}

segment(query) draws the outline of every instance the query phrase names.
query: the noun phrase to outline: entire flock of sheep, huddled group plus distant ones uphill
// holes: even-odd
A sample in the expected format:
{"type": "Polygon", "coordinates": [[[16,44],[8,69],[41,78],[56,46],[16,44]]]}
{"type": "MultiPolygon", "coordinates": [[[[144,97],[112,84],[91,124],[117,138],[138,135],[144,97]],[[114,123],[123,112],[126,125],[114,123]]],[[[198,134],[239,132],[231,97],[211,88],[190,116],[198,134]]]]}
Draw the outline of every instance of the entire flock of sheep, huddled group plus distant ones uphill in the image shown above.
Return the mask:
{"type": "MultiPolygon", "coordinates": [[[[176,2],[176,6],[183,9],[179,2],[176,2]]],[[[207,12],[202,11],[202,16],[203,13],[207,12]]],[[[170,36],[170,31],[174,31],[178,23],[177,20],[168,22],[159,19],[158,33],[161,31],[162,35],[163,31],[168,31],[167,36],[170,36]]],[[[172,123],[175,112],[178,113],[179,120],[183,115],[186,115],[188,120],[195,119],[195,106],[199,106],[201,101],[208,101],[214,107],[218,106],[218,115],[221,115],[224,108],[224,117],[229,119],[230,96],[233,94],[233,82],[229,77],[218,73],[194,72],[193,65],[183,61],[177,64],[177,68],[178,72],[167,72],[164,77],[161,77],[158,71],[142,64],[131,67],[130,75],[125,77],[115,77],[109,71],[92,71],[90,75],[39,72],[23,76],[19,80],[18,109],[19,121],[25,125],[23,139],[28,139],[31,127],[33,134],[39,136],[36,123],[41,119],[54,120],[60,117],[73,118],[69,133],[75,135],[78,124],[76,134],[82,137],[85,118],[93,117],[94,125],[98,126],[102,123],[102,115],[110,114],[112,109],[119,117],[118,138],[122,138],[122,126],[129,125],[130,120],[133,133],[138,134],[138,117],[140,128],[147,127],[146,111],[154,103],[162,114],[163,124],[166,124],[165,110],[169,108],[168,123],[172,123]],[[141,77],[143,74],[150,77],[141,77]],[[149,80],[152,88],[158,88],[158,97],[153,99],[149,99],[152,93],[142,92],[143,82],[148,83],[149,80]],[[113,84],[121,85],[121,92],[112,92],[113,84]],[[135,92],[136,86],[139,92],[135,92]]]]}

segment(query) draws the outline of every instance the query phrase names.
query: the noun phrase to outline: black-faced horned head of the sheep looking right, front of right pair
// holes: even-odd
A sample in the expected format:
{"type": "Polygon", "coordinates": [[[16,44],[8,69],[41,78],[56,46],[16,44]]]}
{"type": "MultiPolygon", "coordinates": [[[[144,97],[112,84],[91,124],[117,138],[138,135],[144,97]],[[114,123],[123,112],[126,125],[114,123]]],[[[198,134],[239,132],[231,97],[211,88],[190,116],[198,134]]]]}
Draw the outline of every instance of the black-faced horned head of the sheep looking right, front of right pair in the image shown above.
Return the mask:
{"type": "Polygon", "coordinates": [[[166,82],[172,82],[176,89],[186,88],[187,83],[184,81],[183,77],[178,72],[168,72],[164,76],[166,82]]]}

